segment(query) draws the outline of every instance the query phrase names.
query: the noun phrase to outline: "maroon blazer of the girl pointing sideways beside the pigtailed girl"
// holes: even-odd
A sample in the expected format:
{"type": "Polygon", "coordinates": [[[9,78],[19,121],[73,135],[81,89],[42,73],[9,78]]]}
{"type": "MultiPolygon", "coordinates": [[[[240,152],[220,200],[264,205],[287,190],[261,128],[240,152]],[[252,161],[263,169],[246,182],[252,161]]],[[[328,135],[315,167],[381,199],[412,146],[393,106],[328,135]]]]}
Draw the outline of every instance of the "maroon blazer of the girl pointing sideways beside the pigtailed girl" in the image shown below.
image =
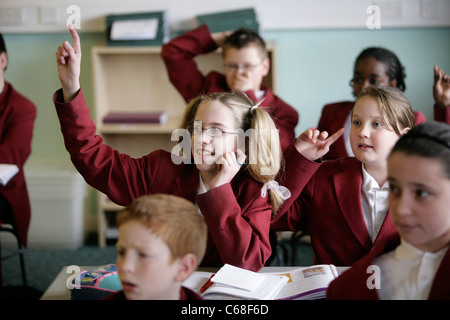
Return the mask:
{"type": "MultiPolygon", "coordinates": [[[[290,174],[282,183],[292,196],[272,220],[272,230],[309,232],[316,264],[352,265],[372,248],[361,206],[361,162],[356,158],[326,161],[303,188],[303,183],[295,184],[301,175],[291,170],[303,157],[298,152],[285,154],[290,174]]],[[[395,233],[388,212],[375,244],[395,233]]]]}

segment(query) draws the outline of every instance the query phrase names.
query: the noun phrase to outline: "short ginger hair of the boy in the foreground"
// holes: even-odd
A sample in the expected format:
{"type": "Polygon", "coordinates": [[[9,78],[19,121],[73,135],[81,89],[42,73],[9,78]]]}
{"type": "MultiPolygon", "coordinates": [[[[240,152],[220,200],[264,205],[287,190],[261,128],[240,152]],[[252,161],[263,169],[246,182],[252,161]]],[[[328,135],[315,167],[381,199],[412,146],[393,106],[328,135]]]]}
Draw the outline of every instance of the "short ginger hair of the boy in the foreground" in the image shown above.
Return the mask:
{"type": "Polygon", "coordinates": [[[174,195],[141,196],[119,212],[117,225],[130,220],[140,221],[160,237],[171,252],[171,263],[188,253],[197,258],[197,265],[206,250],[207,227],[197,207],[174,195]]]}

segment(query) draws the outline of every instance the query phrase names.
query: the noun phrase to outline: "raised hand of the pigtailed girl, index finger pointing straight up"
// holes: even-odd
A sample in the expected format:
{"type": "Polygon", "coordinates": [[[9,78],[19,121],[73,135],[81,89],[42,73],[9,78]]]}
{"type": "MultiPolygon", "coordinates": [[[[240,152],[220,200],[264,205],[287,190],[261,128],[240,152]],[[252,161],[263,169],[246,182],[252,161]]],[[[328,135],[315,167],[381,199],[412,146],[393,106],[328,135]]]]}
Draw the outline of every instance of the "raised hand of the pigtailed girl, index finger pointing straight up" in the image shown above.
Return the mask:
{"type": "Polygon", "coordinates": [[[56,51],[58,76],[61,81],[65,102],[71,101],[78,90],[80,90],[80,37],[73,26],[69,26],[69,31],[72,35],[73,47],[68,41],[64,41],[56,51]]]}

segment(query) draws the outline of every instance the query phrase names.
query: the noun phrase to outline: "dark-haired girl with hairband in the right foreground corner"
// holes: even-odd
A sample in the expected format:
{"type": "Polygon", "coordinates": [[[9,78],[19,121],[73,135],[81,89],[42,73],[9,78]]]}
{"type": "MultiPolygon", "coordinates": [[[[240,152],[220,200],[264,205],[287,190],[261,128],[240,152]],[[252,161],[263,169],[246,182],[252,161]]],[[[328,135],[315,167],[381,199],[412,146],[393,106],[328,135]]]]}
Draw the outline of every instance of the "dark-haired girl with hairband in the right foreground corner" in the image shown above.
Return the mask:
{"type": "Polygon", "coordinates": [[[332,282],[328,298],[450,299],[450,125],[424,123],[400,138],[388,181],[399,237],[332,282]]]}

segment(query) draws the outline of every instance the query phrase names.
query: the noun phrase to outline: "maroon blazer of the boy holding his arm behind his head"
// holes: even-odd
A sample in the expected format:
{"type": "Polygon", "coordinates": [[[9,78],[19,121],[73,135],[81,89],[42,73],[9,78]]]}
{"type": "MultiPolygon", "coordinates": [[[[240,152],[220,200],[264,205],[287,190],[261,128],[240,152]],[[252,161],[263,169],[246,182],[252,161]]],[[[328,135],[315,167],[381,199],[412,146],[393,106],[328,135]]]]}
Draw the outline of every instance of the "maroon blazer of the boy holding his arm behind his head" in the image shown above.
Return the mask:
{"type": "MultiPolygon", "coordinates": [[[[206,76],[197,68],[194,58],[217,49],[206,25],[185,33],[162,48],[162,58],[166,64],[169,79],[180,92],[186,102],[192,98],[211,92],[229,92],[225,76],[212,71],[206,76]]],[[[261,90],[266,92],[262,106],[271,116],[279,129],[281,148],[284,150],[295,138],[295,127],[299,116],[298,112],[273,94],[272,90],[262,85],[261,90]]],[[[245,92],[250,99],[257,102],[253,91],[245,92]]]]}

